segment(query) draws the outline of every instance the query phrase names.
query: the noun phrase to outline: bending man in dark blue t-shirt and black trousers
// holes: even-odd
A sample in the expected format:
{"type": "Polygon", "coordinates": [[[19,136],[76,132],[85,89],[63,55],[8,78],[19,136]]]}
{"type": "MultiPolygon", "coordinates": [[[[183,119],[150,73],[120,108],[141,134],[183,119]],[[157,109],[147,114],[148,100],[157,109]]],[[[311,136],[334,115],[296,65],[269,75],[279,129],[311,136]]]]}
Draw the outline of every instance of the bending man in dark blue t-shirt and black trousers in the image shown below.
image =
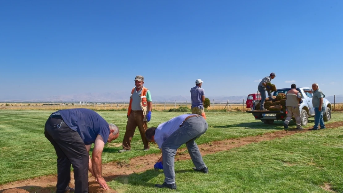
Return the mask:
{"type": "Polygon", "coordinates": [[[57,154],[57,191],[71,190],[70,166],[74,168],[75,193],[88,192],[88,170],[100,186],[109,190],[102,177],[101,154],[106,142],[119,136],[115,124],[107,123],[90,109],[59,110],[50,115],[45,123],[45,137],[57,154]],[[89,155],[94,143],[92,158],[89,155]]]}

